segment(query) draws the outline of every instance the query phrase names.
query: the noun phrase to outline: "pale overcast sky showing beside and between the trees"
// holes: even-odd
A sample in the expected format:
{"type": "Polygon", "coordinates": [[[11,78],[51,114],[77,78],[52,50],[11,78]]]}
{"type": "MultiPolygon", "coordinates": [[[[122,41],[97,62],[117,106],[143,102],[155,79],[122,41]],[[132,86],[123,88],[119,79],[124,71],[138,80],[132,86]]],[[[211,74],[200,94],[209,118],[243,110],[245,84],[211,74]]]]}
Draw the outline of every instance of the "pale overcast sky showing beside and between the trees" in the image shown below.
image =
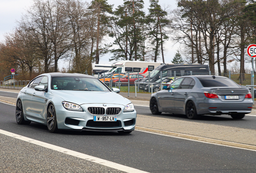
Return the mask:
{"type": "MultiPolygon", "coordinates": [[[[84,0],[90,2],[91,0],[84,0]]],[[[123,4],[122,0],[108,0],[109,4],[114,4],[114,9],[117,8],[118,5],[123,4]]],[[[31,0],[0,0],[0,42],[4,40],[4,34],[13,30],[13,28],[17,25],[16,21],[20,20],[21,15],[25,14],[25,9],[31,6],[31,0]]],[[[147,8],[149,8],[149,0],[144,0],[144,11],[147,12],[147,8]]],[[[169,5],[172,9],[176,8],[175,0],[159,0],[159,4],[161,6],[169,5]]],[[[171,62],[173,56],[175,55],[178,47],[168,41],[165,44],[165,63],[171,62]]],[[[111,54],[107,54],[100,58],[100,64],[111,64],[109,62],[109,58],[111,54]]],[[[162,62],[159,59],[159,62],[162,62]]]]}

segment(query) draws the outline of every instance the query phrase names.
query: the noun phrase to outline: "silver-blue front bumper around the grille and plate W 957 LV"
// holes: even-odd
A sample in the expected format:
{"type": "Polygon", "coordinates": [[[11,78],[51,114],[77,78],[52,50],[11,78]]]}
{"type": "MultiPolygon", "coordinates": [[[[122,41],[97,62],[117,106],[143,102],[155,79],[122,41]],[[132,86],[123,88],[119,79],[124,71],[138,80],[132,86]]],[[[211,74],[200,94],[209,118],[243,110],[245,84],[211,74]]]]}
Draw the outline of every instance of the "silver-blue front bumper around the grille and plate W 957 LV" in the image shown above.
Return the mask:
{"type": "Polygon", "coordinates": [[[136,124],[136,111],[124,112],[123,105],[107,104],[84,104],[81,105],[83,112],[69,111],[63,106],[56,106],[58,129],[87,130],[87,131],[133,131],[136,124]],[[88,107],[101,107],[105,109],[104,115],[94,115],[88,111],[88,107]],[[118,115],[106,115],[108,107],[118,107],[121,111],[118,115]],[[116,121],[93,121],[94,116],[116,116],[116,121]]]}

